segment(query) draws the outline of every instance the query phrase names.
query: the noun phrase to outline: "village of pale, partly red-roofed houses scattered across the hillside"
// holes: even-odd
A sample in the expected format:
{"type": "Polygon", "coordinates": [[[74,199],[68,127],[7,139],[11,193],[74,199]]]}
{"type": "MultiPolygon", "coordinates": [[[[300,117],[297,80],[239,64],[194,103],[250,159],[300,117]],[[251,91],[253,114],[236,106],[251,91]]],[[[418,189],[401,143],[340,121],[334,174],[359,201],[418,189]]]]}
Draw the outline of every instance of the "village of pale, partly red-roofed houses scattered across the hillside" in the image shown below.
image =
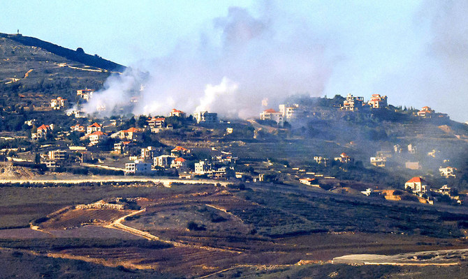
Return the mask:
{"type": "MultiPolygon", "coordinates": [[[[78,90],[77,103],[87,103],[93,98],[94,91],[94,89],[78,90]]],[[[337,112],[355,113],[388,110],[389,106],[387,96],[373,94],[370,100],[365,102],[363,97],[348,94],[341,104],[334,107],[337,112]]],[[[343,190],[346,188],[343,183],[337,182],[336,177],[327,171],[335,167],[340,173],[346,174],[348,165],[356,165],[355,158],[349,156],[345,150],[342,150],[342,153],[310,154],[316,166],[314,167],[314,165],[290,166],[272,163],[268,158],[246,158],[236,154],[230,146],[221,146],[219,140],[218,144],[214,142],[210,144],[209,141],[187,142],[182,137],[180,142],[166,140],[166,144],[158,142],[155,146],[151,145],[152,135],[174,133],[175,130],[187,129],[188,126],[193,130],[203,129],[205,133],[221,129],[224,131],[222,135],[224,137],[235,135],[237,132],[235,121],[231,123],[219,119],[214,112],[196,112],[187,115],[186,112],[173,109],[166,116],[146,118],[141,116],[138,121],[126,123],[126,128],[122,128],[126,119],[121,117],[89,119],[85,111],[77,109],[76,105],[72,106],[68,100],[60,96],[50,100],[50,109],[75,119],[76,124],[70,127],[57,127],[56,123],[37,123],[35,119],[27,121],[25,125],[32,127],[31,142],[40,144],[41,148],[36,153],[13,150],[15,154],[8,156],[8,160],[16,165],[43,165],[50,172],[84,174],[86,168],[92,170],[94,174],[215,179],[233,183],[278,182],[293,185],[299,183],[337,193],[359,193],[370,197],[379,196],[390,200],[410,200],[427,204],[441,201],[460,205],[465,201],[465,195],[460,195],[456,187],[450,186],[451,179],[455,179],[457,175],[457,168],[450,165],[449,158],[439,166],[440,176],[448,179],[449,183],[430,185],[420,175],[407,177],[408,180],[404,185],[397,185],[394,188],[379,188],[379,185],[366,188],[359,186],[350,191],[343,190]],[[64,145],[64,142],[71,138],[72,144],[64,145]]],[[[252,129],[251,137],[255,140],[269,129],[275,130],[272,133],[279,133],[285,126],[291,123],[294,125],[297,121],[311,116],[314,117],[316,114],[309,112],[307,106],[300,104],[282,104],[279,105],[279,111],[264,110],[257,120],[258,123],[255,123],[256,127],[252,129]]],[[[430,107],[412,112],[411,117],[448,119],[446,114],[436,113],[430,107]]],[[[348,146],[353,147],[353,142],[348,146]]],[[[4,152],[11,155],[11,150],[4,152]]],[[[376,156],[371,156],[367,162],[377,169],[404,167],[417,172],[421,170],[421,165],[415,157],[418,152],[415,144],[409,143],[407,146],[395,144],[389,150],[376,151],[376,156]]],[[[427,153],[427,158],[434,159],[437,152],[435,149],[432,150],[427,153]]],[[[366,185],[369,186],[368,183],[366,185]]]]}

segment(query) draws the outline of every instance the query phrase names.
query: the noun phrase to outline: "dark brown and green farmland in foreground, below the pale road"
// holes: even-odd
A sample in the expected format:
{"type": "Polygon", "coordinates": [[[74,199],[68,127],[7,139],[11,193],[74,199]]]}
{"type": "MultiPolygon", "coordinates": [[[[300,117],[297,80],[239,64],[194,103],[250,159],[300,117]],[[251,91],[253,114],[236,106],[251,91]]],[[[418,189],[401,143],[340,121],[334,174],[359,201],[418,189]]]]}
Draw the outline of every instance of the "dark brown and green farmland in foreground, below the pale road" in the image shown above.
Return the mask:
{"type": "MultiPolygon", "coordinates": [[[[432,272],[434,267],[349,266],[329,261],[350,254],[395,255],[468,247],[463,238],[468,214],[462,209],[388,202],[303,186],[247,184],[242,190],[210,185],[3,187],[0,193],[11,196],[3,205],[8,209],[1,211],[3,216],[22,213],[24,221],[17,223],[23,225],[36,218],[41,230],[0,229],[0,247],[13,249],[2,257],[8,256],[13,266],[15,251],[28,259],[38,257],[39,262],[57,261],[56,266],[85,261],[112,274],[124,271],[136,278],[156,274],[375,278],[371,275],[386,273],[399,278],[404,269],[418,273],[432,272]],[[43,211],[31,209],[32,195],[37,197],[34,204],[45,205],[43,211]],[[145,211],[70,207],[115,197],[140,197],[134,200],[145,211]],[[147,241],[112,227],[124,216],[123,225],[159,240],[147,241]]],[[[463,263],[461,258],[458,261],[463,263]]],[[[466,270],[463,265],[441,267],[456,274],[455,268],[466,270]]]]}

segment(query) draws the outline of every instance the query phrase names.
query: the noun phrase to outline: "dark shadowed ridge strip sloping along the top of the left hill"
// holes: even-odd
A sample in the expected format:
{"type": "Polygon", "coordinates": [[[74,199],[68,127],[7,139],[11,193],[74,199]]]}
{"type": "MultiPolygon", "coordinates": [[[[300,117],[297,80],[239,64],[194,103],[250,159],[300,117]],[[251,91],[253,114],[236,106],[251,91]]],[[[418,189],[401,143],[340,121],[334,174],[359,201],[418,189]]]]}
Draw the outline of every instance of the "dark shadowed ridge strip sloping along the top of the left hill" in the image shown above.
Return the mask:
{"type": "Polygon", "coordinates": [[[97,54],[86,54],[80,47],[78,47],[77,50],[70,50],[66,47],[54,45],[38,38],[22,36],[21,34],[0,33],[0,38],[8,38],[10,40],[14,40],[17,43],[21,43],[22,45],[29,45],[31,47],[41,47],[43,50],[47,50],[47,52],[52,52],[53,54],[62,56],[71,61],[83,63],[87,66],[93,66],[110,71],[122,71],[125,68],[125,66],[122,66],[118,63],[105,60],[97,54]]]}

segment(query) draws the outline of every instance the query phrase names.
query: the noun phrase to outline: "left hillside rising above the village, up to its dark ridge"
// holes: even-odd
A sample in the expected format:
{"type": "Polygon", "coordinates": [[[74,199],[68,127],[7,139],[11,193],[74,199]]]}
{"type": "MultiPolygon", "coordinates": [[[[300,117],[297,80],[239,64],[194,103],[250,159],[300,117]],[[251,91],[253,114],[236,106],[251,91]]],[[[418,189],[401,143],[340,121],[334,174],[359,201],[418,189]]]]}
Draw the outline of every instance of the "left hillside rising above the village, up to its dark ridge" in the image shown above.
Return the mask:
{"type": "Polygon", "coordinates": [[[52,97],[75,100],[76,90],[99,89],[117,63],[36,38],[0,33],[0,103],[41,107],[52,97]],[[91,58],[90,58],[91,57],[91,58]]]}

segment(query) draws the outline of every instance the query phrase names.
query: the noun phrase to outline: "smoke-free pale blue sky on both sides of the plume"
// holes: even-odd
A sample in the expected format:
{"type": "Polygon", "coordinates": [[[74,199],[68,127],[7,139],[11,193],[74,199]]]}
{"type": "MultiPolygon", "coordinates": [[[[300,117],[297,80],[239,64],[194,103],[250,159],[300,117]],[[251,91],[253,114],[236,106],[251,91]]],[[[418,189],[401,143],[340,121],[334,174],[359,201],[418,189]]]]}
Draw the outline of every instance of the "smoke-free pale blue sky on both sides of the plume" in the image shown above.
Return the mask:
{"type": "Polygon", "coordinates": [[[24,36],[82,47],[126,66],[173,57],[199,47],[203,38],[221,46],[224,33],[215,22],[228,18],[229,7],[237,6],[254,19],[274,19],[277,26],[271,30],[277,36],[298,36],[304,29],[307,39],[298,42],[321,47],[327,74],[314,96],[353,93],[367,99],[381,93],[394,105],[430,105],[455,120],[468,120],[461,105],[442,98],[468,101],[468,83],[462,81],[467,61],[460,59],[468,56],[466,1],[1,2],[0,32],[20,29],[24,36]],[[454,47],[459,56],[453,56],[454,47]]]}

